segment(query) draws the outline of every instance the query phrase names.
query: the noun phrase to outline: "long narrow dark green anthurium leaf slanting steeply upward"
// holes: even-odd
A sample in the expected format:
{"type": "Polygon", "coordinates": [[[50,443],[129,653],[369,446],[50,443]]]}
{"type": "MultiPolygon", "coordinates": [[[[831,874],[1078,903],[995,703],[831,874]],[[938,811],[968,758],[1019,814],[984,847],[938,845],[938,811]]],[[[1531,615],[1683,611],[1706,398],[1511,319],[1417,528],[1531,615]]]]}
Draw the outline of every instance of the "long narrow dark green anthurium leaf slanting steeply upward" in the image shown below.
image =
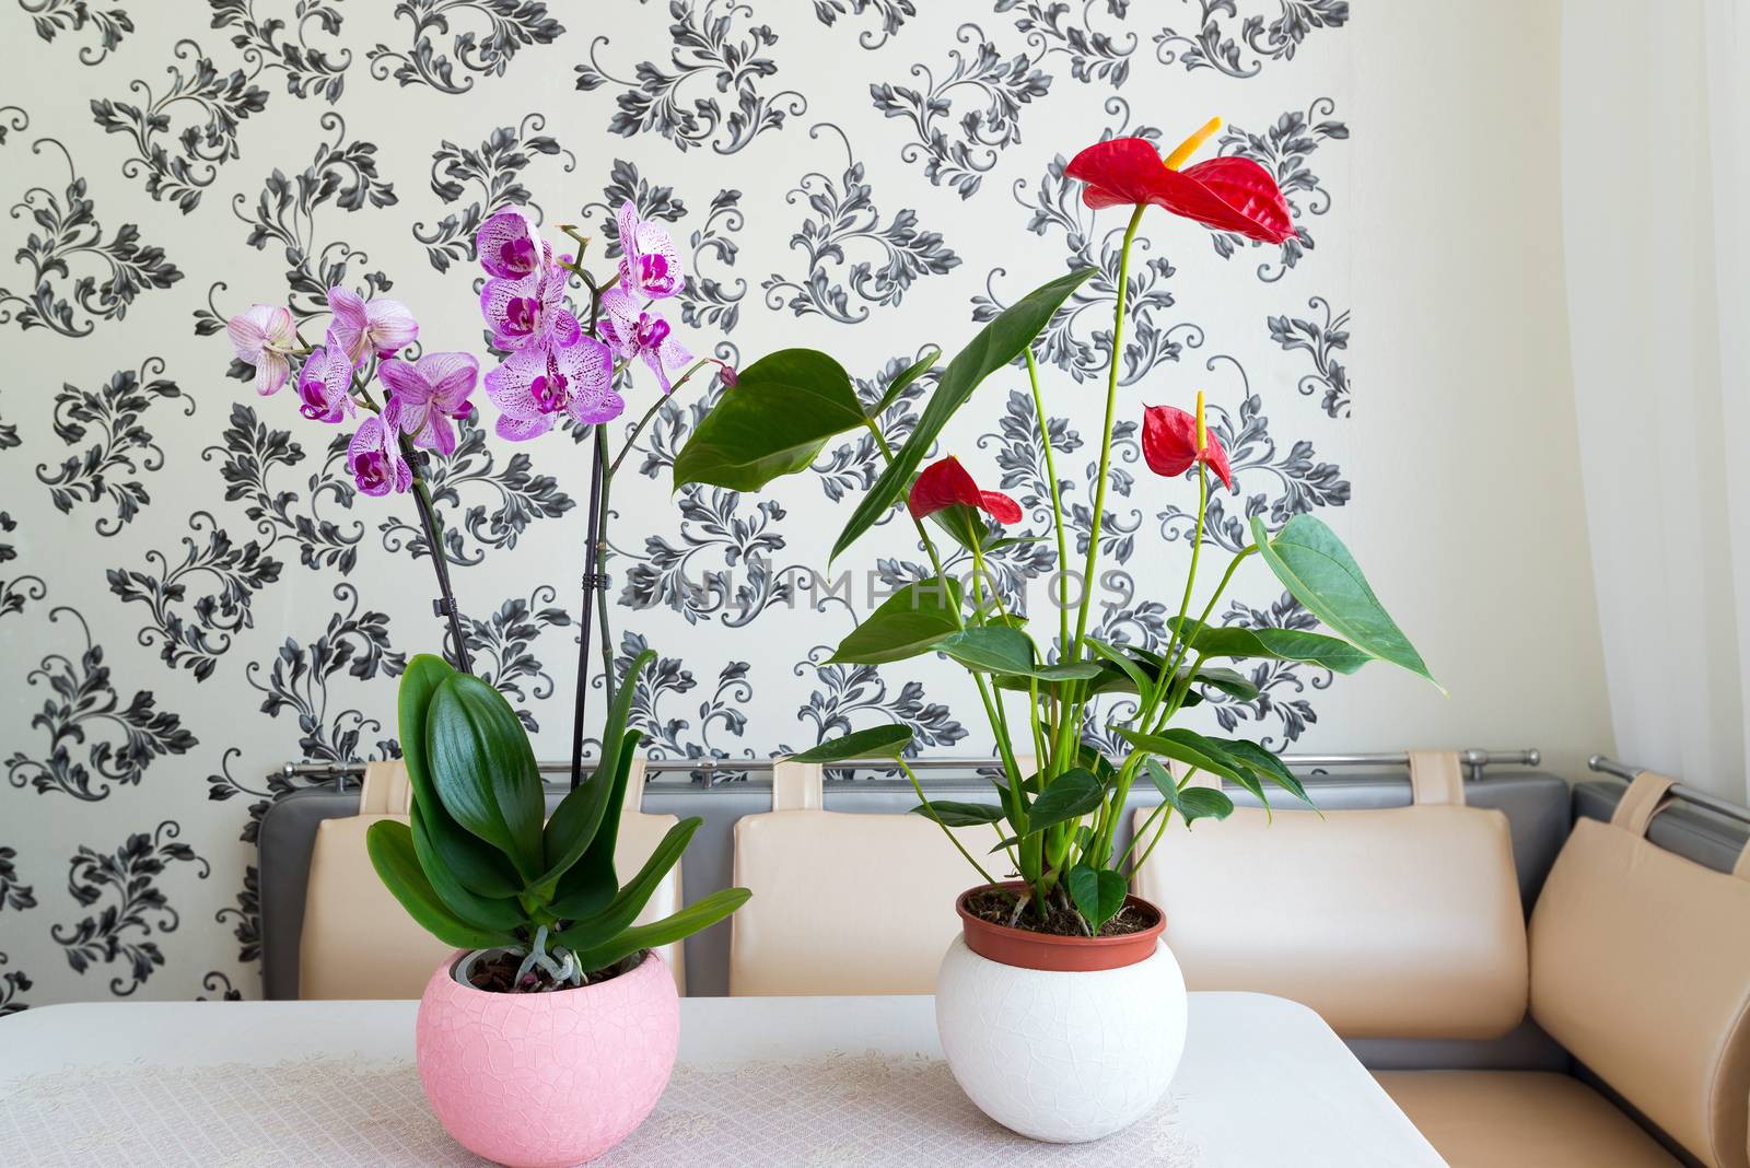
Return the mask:
{"type": "Polygon", "coordinates": [[[973,390],[985,378],[1020,357],[1032,344],[1032,339],[1040,336],[1046,322],[1050,322],[1052,313],[1092,275],[1092,268],[1083,268],[1034,289],[1003,309],[1003,313],[978,330],[978,336],[966,348],[954,355],[954,360],[942,372],[942,379],[936,381],[936,390],[929,395],[929,404],[919,414],[917,428],[912,430],[905,446],[894,453],[892,462],[887,463],[875,486],[868,490],[863,502],[850,514],[850,521],[845,523],[838,542],[833,544],[833,558],[838,558],[859,535],[875,526],[887,514],[889,507],[900,502],[905,488],[912,483],[912,476],[922,465],[924,455],[929,453],[942,435],[942,428],[948,423],[948,418],[966,404],[973,390]]]}

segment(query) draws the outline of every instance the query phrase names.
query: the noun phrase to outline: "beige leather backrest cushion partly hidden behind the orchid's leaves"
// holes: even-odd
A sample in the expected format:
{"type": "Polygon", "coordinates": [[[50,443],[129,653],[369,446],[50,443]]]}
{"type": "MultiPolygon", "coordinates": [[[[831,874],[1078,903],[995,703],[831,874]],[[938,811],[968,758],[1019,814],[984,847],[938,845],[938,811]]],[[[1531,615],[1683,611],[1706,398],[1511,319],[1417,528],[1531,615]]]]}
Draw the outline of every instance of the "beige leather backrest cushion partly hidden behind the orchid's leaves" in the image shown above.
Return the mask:
{"type": "MultiPolygon", "coordinates": [[[[380,766],[380,764],[373,764],[380,766]]],[[[399,764],[396,764],[399,768],[399,764]]],[[[404,783],[406,771],[399,782],[404,783]]],[[[642,782],[642,773],[634,775],[642,782]]],[[[382,783],[362,796],[383,808],[382,783]]],[[[406,794],[394,789],[390,799],[406,806],[406,794]]],[[[416,998],[425,993],[432,970],[450,955],[450,946],[430,935],[408,916],[401,902],[371,867],[364,850],[364,832],[380,818],[406,815],[346,815],[324,820],[317,827],[310,855],[310,886],[304,892],[304,928],[298,951],[298,997],[315,998],[416,998]]],[[[635,811],[634,796],[620,820],[620,848],[614,864],[621,881],[651,857],[663,834],[679,820],[672,815],[635,811]]],[[[681,866],[639,914],[639,923],[653,921],[681,907],[681,866]]],[[[681,944],[658,949],[674,972],[676,986],[686,993],[686,969],[681,944]]]]}

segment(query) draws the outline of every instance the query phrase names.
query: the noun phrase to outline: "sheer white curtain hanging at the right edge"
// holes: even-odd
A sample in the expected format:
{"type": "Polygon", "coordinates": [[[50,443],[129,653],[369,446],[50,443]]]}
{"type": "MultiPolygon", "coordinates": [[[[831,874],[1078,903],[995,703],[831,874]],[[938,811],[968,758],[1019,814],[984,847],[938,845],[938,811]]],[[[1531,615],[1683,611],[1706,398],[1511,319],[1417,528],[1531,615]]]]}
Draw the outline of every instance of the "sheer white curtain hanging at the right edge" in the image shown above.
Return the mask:
{"type": "Polygon", "coordinates": [[[1570,344],[1615,754],[1745,799],[1750,0],[1566,0],[1563,19],[1570,344]]]}

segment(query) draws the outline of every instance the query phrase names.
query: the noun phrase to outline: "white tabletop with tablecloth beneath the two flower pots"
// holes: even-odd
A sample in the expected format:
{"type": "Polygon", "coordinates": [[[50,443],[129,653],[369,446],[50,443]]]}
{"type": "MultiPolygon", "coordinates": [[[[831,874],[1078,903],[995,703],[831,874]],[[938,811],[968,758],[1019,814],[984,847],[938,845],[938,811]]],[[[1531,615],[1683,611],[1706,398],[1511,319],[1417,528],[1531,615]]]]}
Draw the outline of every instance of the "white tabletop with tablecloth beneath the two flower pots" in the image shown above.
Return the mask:
{"type": "MultiPolygon", "coordinates": [[[[0,1021],[0,1165],[474,1165],[411,1065],[415,1002],[51,1005],[0,1021]]],[[[1194,993],[1171,1096],[1099,1144],[966,1102],[928,997],[686,998],[656,1112],[600,1165],[1419,1168],[1440,1158],[1312,1011],[1194,993]]]]}

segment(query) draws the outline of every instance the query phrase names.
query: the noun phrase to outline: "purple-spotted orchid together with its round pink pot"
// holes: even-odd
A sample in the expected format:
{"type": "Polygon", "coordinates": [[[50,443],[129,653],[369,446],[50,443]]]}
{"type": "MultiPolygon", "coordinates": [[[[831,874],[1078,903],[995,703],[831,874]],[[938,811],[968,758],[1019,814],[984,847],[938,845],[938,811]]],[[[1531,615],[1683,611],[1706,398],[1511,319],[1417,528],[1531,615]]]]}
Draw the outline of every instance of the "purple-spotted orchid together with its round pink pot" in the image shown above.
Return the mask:
{"type": "Polygon", "coordinates": [[[366,838],[388,892],[457,948],[420,1000],[420,1082],[458,1142],[506,1165],[590,1159],[644,1121],[668,1081],[679,1030],[674,979],[654,949],[721,921],[749,895],[726,888],[637,923],[700,820],[670,829],[620,883],[620,808],[640,740],[626,719],[654,654],[646,650],[614,678],[598,572],[607,484],[620,460],[693,372],[716,365],[728,383],[733,371],[716,358],[695,362],[654,311],[654,301],[682,287],[679,255],[660,226],[640,220],[630,201],[621,208],[611,278],[583,266],[588,238],[564,231],[578,255],[556,254],[527,213],[504,208],[474,240],[485,269],[480,308],[500,357],[483,379],[499,411],[497,434],[528,441],[558,425],[593,432],[572,789],[551,818],[523,724],[472,673],[450,582],[441,490],[427,477],[425,455],[448,456],[457,425],[474,423],[480,362],[462,351],[415,357],[418,323],[408,308],[345,287],[327,292],[322,344],[304,343],[284,306],[256,304],[228,323],[259,393],[292,383],[304,418],[355,425],[345,449],[360,493],[411,495],[418,511],[448,659],[418,654],[402,673],[397,720],[411,811],[406,822],[371,824],[366,838]],[[578,308],[569,299],[574,287],[578,308]],[[607,428],[626,409],[620,388],[634,362],[654,376],[660,393],[611,458],[607,428]],[[609,710],[600,757],[584,780],[592,596],[602,615],[609,710]],[[527,1123],[530,1116],[541,1123],[527,1123]]]}

